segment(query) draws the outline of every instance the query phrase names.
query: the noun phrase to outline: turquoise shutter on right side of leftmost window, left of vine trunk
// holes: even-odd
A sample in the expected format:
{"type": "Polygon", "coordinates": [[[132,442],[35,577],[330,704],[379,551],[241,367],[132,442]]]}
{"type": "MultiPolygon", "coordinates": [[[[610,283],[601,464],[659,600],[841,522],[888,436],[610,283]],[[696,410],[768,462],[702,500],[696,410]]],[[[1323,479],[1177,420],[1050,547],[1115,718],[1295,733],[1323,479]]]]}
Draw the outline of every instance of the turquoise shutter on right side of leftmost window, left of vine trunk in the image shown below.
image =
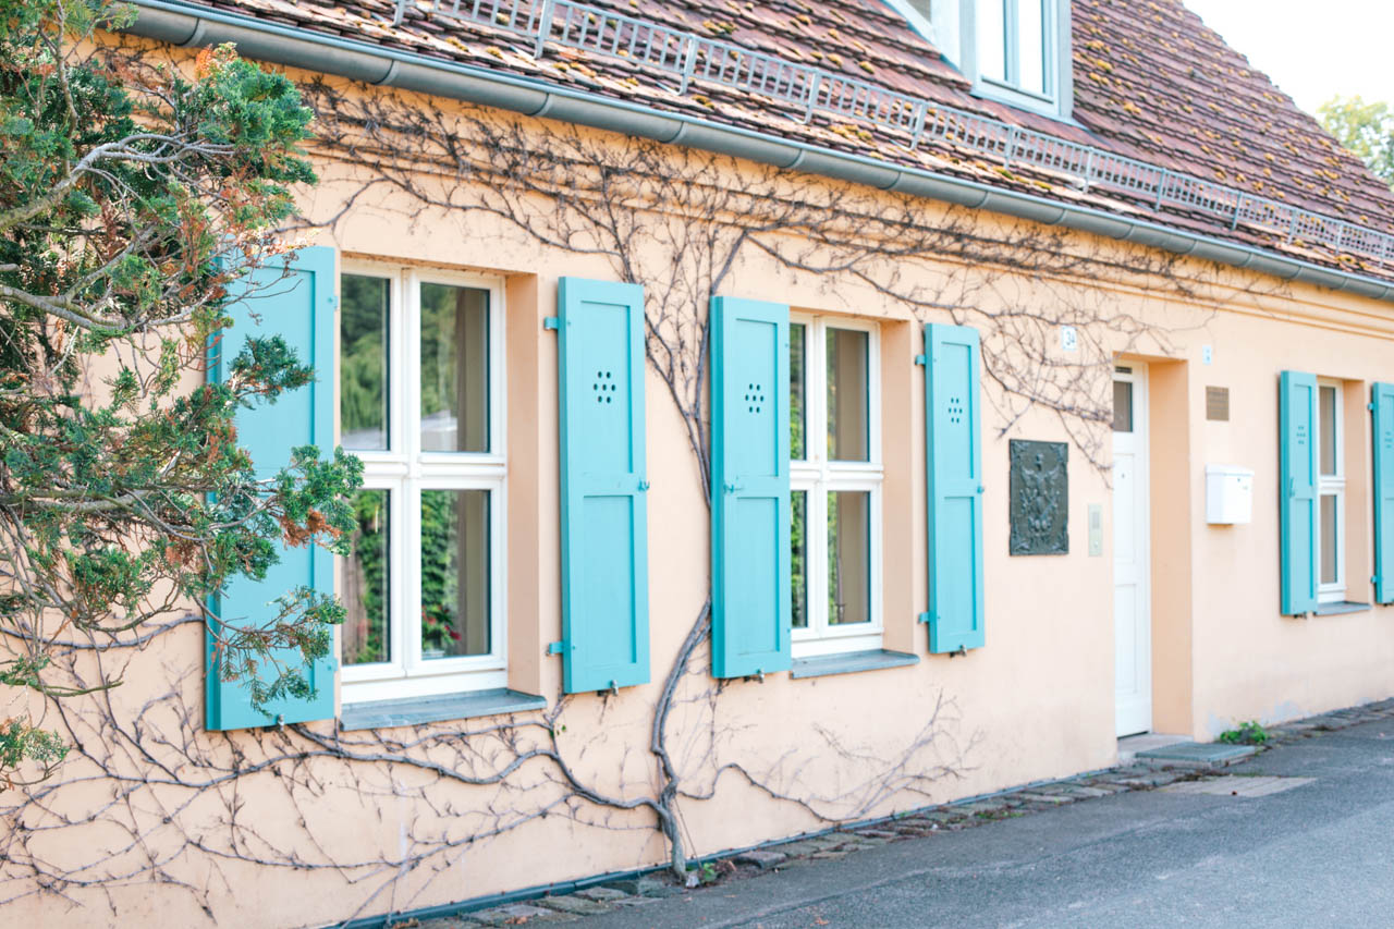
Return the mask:
{"type": "Polygon", "coordinates": [[[567,693],[648,681],[644,289],[562,278],[562,643],[567,693]]]}

